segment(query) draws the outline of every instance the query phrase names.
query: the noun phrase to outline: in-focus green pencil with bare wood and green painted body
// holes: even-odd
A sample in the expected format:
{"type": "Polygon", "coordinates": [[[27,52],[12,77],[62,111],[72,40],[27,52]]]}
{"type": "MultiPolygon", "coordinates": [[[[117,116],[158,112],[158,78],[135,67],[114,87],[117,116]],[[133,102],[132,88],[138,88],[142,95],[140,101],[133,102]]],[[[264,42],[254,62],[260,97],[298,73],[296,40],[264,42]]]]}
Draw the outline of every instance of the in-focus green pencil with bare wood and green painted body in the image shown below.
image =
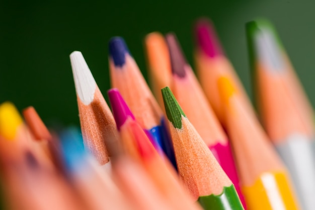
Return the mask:
{"type": "Polygon", "coordinates": [[[244,209],[237,191],[189,122],[171,90],[162,89],[178,172],[204,209],[244,209]]]}

